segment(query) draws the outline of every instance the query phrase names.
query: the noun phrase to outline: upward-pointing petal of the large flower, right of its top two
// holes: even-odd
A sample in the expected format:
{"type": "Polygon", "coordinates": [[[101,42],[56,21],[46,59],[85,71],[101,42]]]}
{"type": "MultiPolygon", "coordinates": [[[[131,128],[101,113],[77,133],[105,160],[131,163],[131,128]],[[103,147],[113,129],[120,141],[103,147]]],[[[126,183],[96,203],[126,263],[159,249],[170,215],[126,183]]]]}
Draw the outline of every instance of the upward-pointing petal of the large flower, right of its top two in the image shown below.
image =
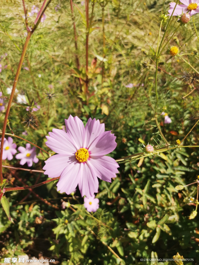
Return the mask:
{"type": "Polygon", "coordinates": [[[101,133],[103,133],[105,130],[104,123],[100,124],[99,120],[89,120],[86,123],[85,126],[85,143],[84,148],[89,148],[92,142],[99,136],[101,133]]]}

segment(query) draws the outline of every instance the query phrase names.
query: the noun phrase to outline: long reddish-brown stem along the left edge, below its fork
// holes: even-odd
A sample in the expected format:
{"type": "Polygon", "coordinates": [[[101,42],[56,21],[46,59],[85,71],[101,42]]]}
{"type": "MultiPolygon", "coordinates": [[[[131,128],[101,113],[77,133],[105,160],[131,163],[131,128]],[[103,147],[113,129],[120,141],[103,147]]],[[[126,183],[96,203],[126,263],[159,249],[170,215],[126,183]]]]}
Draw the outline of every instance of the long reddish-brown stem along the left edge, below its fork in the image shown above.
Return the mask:
{"type": "Polygon", "coordinates": [[[21,59],[20,59],[19,66],[18,66],[18,69],[17,69],[17,72],[16,72],[14,84],[13,84],[13,87],[12,87],[12,92],[11,92],[11,95],[10,95],[10,100],[8,102],[6,115],[5,115],[5,119],[4,119],[4,123],[3,123],[1,148],[0,148],[0,178],[1,178],[1,184],[3,183],[2,154],[3,154],[3,143],[4,143],[5,132],[6,132],[7,119],[8,119],[8,115],[9,115],[9,112],[10,112],[12,100],[13,100],[13,97],[14,97],[14,94],[15,94],[15,88],[16,88],[16,85],[17,85],[17,82],[18,82],[18,79],[19,79],[19,74],[20,74],[20,71],[21,71],[21,67],[22,67],[22,64],[23,64],[23,61],[24,61],[24,58],[25,58],[25,53],[27,51],[28,43],[29,43],[30,38],[31,38],[31,34],[32,34],[31,32],[28,32],[28,36],[27,36],[25,44],[24,44],[23,52],[21,54],[21,59]]]}

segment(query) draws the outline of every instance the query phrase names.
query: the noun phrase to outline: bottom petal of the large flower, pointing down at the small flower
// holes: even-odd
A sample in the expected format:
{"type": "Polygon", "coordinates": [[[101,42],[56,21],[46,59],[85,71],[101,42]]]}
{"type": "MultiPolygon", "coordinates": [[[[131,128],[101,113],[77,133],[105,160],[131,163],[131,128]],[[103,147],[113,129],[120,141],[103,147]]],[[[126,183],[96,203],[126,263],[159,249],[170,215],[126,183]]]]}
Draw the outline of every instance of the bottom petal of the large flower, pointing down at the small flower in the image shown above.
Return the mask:
{"type": "Polygon", "coordinates": [[[94,192],[98,192],[99,182],[93,168],[88,163],[81,163],[81,167],[83,170],[78,183],[79,190],[82,197],[86,195],[89,198],[94,195],[94,192]]]}

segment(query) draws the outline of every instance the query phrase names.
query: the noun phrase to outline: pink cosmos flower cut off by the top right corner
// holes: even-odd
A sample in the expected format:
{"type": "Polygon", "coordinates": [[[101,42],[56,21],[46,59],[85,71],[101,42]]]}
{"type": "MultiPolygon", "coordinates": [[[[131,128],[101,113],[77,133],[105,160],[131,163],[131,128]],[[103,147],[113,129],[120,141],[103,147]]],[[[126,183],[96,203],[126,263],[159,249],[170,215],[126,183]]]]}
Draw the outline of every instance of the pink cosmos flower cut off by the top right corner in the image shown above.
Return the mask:
{"type": "Polygon", "coordinates": [[[196,13],[199,12],[199,0],[180,0],[181,3],[183,3],[184,5],[177,5],[175,10],[174,7],[176,5],[175,2],[170,3],[170,10],[168,10],[169,12],[169,16],[171,16],[173,10],[174,10],[174,14],[173,16],[177,16],[177,15],[181,15],[182,11],[183,13],[187,13],[189,12],[189,15],[195,15],[196,13]]]}

